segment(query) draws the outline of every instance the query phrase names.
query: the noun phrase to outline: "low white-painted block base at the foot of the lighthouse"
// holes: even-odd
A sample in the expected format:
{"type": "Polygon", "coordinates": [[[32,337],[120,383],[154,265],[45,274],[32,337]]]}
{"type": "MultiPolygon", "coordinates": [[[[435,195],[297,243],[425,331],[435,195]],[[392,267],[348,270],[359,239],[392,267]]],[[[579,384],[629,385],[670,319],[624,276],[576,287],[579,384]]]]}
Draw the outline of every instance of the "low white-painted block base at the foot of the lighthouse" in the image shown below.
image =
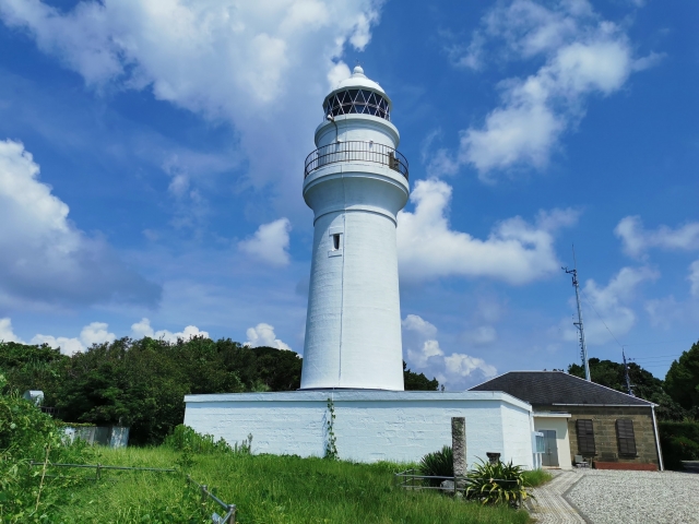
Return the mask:
{"type": "Polygon", "coordinates": [[[533,467],[532,407],[507,393],[321,390],[185,396],[185,424],[200,433],[241,442],[253,453],[323,456],[328,400],[335,410],[340,458],[415,462],[451,445],[451,417],[466,419],[466,461],[501,460],[533,467]]]}

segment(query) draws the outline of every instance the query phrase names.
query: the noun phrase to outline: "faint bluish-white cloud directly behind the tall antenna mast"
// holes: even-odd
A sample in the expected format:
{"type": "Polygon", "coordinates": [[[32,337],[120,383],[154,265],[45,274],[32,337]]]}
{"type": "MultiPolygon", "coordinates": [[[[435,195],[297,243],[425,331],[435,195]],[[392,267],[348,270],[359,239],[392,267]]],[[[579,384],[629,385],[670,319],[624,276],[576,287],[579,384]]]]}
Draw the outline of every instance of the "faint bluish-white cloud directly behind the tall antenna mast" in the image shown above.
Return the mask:
{"type": "MultiPolygon", "coordinates": [[[[632,305],[638,286],[659,277],[650,267],[623,267],[606,286],[600,286],[592,278],[587,281],[582,293],[585,341],[600,345],[628,333],[637,320],[632,305]]],[[[560,329],[564,340],[578,340],[570,319],[561,320],[560,329]]]]}

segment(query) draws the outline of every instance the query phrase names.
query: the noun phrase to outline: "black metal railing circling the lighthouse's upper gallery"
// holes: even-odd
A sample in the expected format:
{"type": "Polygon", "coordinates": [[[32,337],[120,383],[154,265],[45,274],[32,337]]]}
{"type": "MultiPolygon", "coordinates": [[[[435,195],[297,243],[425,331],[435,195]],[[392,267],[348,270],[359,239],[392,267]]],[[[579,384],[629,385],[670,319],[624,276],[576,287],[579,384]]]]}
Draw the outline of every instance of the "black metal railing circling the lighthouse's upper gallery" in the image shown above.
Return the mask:
{"type": "Polygon", "coordinates": [[[306,157],[304,178],[316,169],[339,162],[372,162],[399,171],[407,180],[407,159],[388,145],[376,142],[335,142],[317,148],[306,157]]]}

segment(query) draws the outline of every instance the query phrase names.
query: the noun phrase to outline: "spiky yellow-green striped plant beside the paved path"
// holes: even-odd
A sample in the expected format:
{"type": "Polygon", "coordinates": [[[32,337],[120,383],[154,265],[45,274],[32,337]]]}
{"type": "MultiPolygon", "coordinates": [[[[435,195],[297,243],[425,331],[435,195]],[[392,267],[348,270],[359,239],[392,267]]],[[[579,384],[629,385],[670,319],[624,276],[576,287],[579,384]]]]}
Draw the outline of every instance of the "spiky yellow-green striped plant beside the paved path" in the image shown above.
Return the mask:
{"type": "Polygon", "coordinates": [[[479,461],[475,469],[466,476],[465,496],[478,500],[483,504],[517,505],[520,498],[524,500],[532,495],[526,492],[524,472],[521,466],[498,461],[495,464],[479,461]]]}

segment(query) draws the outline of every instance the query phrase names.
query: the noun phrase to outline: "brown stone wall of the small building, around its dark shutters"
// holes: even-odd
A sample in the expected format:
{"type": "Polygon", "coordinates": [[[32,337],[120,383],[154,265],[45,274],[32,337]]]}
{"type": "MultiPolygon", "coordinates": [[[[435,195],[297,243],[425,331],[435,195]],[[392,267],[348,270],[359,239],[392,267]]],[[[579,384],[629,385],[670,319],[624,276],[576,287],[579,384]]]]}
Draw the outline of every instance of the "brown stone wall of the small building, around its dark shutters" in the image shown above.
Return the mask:
{"type": "MultiPolygon", "coordinates": [[[[592,419],[597,462],[618,462],[629,464],[654,464],[659,466],[657,448],[653,431],[653,417],[650,407],[614,407],[614,406],[547,406],[566,409],[571,417],[568,419],[570,434],[570,456],[581,454],[578,451],[578,432],[576,420],[579,418],[592,419]],[[633,433],[636,437],[636,457],[619,456],[619,448],[616,437],[616,420],[630,418],[633,420],[633,433]]],[[[540,409],[537,406],[536,409],[540,409]]],[[[544,407],[541,407],[544,409],[544,407]]]]}

